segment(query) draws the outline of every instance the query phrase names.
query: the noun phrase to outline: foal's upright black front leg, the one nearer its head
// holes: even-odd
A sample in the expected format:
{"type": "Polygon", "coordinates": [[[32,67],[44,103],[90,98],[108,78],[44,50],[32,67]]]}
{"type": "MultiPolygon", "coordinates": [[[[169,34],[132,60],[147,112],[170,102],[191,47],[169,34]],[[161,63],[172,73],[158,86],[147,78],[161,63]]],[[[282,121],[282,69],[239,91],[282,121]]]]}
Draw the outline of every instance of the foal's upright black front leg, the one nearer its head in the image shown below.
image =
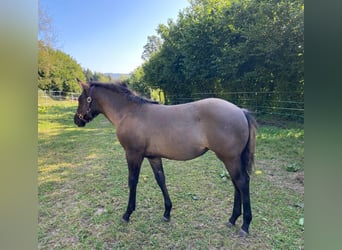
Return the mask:
{"type": "Polygon", "coordinates": [[[128,164],[129,198],[127,210],[122,216],[122,219],[123,221],[128,222],[129,217],[135,210],[137,185],[139,181],[139,173],[143,157],[140,154],[126,152],[126,160],[128,164]]]}

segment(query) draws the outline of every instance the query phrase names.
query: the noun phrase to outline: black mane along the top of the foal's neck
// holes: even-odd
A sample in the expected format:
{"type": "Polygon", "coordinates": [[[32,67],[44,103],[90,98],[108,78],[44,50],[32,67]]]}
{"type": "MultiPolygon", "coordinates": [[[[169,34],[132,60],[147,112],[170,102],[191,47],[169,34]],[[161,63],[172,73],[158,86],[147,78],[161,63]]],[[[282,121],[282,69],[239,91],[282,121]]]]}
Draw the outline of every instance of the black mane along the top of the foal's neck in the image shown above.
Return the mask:
{"type": "Polygon", "coordinates": [[[103,82],[90,82],[90,86],[101,87],[111,91],[114,91],[118,94],[123,94],[126,98],[137,104],[159,104],[159,102],[149,100],[145,97],[139,96],[136,92],[130,90],[126,83],[124,82],[115,82],[115,83],[103,83],[103,82]]]}

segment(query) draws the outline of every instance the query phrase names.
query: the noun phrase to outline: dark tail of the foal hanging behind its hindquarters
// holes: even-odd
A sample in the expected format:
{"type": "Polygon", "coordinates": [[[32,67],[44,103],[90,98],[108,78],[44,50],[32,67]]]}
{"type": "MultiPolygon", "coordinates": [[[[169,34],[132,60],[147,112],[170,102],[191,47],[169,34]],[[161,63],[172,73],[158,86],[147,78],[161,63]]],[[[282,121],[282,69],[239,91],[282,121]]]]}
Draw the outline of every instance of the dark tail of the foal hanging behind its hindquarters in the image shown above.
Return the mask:
{"type": "Polygon", "coordinates": [[[255,136],[258,126],[253,115],[248,110],[243,109],[243,113],[245,114],[248,121],[249,137],[247,144],[241,154],[241,162],[242,167],[245,168],[247,173],[250,174],[252,172],[252,167],[254,164],[255,136]]]}

